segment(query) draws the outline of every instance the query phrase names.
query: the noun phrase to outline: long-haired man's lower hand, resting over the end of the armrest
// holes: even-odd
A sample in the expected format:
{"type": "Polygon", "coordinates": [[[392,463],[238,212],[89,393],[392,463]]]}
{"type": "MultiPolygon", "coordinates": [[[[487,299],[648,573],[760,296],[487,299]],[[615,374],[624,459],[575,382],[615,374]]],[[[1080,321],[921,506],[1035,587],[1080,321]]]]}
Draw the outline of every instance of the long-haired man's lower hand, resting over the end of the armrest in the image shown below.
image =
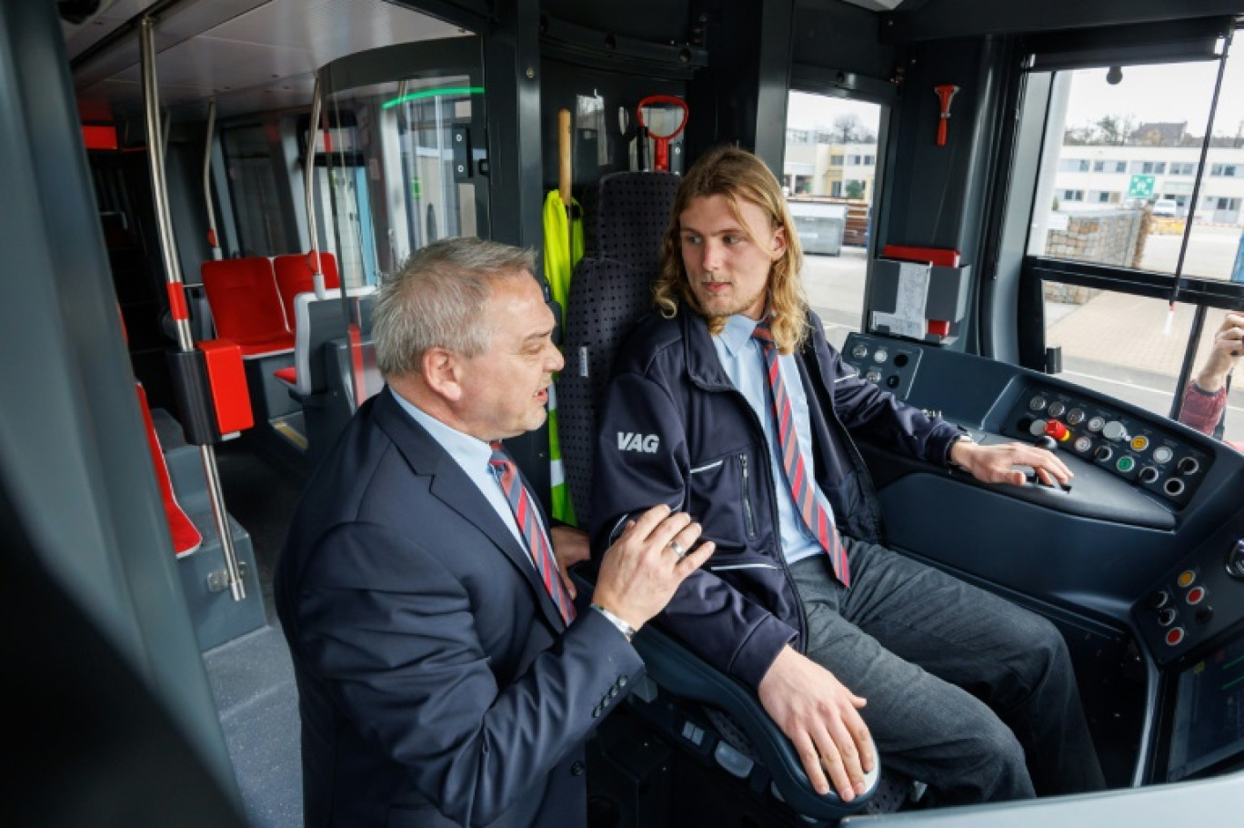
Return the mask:
{"type": "Polygon", "coordinates": [[[865,792],[865,773],[877,763],[860,716],[866,700],[787,646],[760,681],[760,703],[795,743],[817,793],[829,793],[831,783],[843,802],[865,792]]]}

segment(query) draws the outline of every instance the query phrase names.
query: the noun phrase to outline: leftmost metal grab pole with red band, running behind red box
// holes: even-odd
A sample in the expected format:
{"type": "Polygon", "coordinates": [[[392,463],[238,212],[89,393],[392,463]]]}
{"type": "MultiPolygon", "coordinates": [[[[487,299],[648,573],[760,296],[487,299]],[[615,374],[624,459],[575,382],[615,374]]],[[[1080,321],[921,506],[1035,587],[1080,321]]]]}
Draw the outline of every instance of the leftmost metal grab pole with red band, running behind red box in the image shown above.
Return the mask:
{"type": "MultiPolygon", "coordinates": [[[[177,327],[177,344],[182,351],[194,350],[190,336],[190,320],[185,313],[185,288],[182,284],[182,266],[177,259],[177,240],[173,237],[173,222],[168,212],[168,184],[164,181],[164,142],[160,137],[159,91],[156,83],[156,34],[151,17],[143,17],[139,29],[142,45],[143,101],[147,115],[147,157],[152,173],[152,199],[156,203],[156,223],[159,225],[160,254],[167,274],[169,306],[173,309],[173,322],[177,327]]],[[[234,549],[233,532],[229,530],[229,513],[225,512],[224,492],[220,488],[220,472],[216,468],[216,453],[211,446],[199,446],[203,459],[203,472],[208,478],[208,496],[211,501],[211,517],[215,518],[216,532],[220,535],[220,548],[225,558],[225,574],[229,578],[229,591],[235,601],[246,598],[238,568],[238,553],[234,549]]]]}

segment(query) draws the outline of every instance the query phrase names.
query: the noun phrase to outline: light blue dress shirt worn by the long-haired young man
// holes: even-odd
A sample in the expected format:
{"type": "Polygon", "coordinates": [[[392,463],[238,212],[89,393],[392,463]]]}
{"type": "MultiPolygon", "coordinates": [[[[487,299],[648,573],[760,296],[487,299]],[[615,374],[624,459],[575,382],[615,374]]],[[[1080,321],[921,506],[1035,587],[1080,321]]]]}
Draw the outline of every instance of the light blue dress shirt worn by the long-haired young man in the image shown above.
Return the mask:
{"type": "MultiPolygon", "coordinates": [[[[713,347],[717,349],[722,369],[730,377],[734,387],[746,397],[748,405],[756,412],[756,417],[760,418],[760,425],[765,430],[765,442],[769,443],[769,468],[773,473],[774,489],[778,493],[778,532],[781,539],[781,550],[786,557],[786,563],[794,564],[805,558],[824,554],[825,550],[816,537],[809,532],[804,518],[800,517],[795,498],[790,493],[790,483],[786,481],[786,471],[781,467],[781,441],[778,436],[773,403],[769,401],[765,355],[760,350],[760,342],[751,339],[751,331],[755,327],[755,320],[735,314],[725,320],[725,329],[713,337],[713,347]]],[[[807,418],[807,395],[799,379],[799,366],[795,365],[794,355],[780,354],[778,367],[781,371],[786,396],[790,397],[791,410],[795,413],[799,453],[804,456],[804,467],[811,472],[815,468],[812,464],[812,427],[807,418]]],[[[833,509],[825,499],[820,487],[816,487],[815,479],[812,484],[826,515],[832,520],[833,509]]]]}

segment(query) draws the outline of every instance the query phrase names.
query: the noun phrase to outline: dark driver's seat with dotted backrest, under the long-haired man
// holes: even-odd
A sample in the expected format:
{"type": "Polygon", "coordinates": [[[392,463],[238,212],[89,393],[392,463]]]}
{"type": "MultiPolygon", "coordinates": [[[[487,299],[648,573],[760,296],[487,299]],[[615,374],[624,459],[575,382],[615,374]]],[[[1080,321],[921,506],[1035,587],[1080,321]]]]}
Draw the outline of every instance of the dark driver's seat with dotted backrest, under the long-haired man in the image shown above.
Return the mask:
{"type": "MultiPolygon", "coordinates": [[[[657,275],[661,243],[679,178],[669,173],[615,173],[586,193],[585,255],[575,270],[566,309],[566,366],[557,380],[559,428],[566,481],[575,513],[590,518],[596,411],[605,397],[613,354],[633,325],[652,308],[651,284],[657,275]]],[[[591,573],[577,570],[580,591],[591,590],[591,573]]],[[[674,731],[680,743],[688,721],[715,731],[715,761],[734,776],[746,777],[759,763],[771,779],[770,791],[810,821],[837,821],[861,811],[896,811],[907,786],[881,781],[880,767],[868,791],[851,803],[836,793],[816,793],[794,746],[761,707],[750,687],[712,667],[654,624],[634,637],[653,686],[632,695],[632,706],[649,723],[674,731]],[[687,717],[671,717],[677,705],[694,707],[687,717]]],[[[880,762],[878,762],[880,764],[880,762]]]]}

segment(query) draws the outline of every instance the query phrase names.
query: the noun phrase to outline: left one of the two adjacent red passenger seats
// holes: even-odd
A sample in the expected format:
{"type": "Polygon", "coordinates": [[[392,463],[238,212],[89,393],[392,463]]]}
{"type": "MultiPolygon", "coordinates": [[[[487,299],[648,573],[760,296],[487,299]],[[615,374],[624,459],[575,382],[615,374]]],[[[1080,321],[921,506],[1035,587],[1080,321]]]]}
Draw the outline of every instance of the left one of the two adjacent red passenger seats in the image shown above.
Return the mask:
{"type": "Polygon", "coordinates": [[[243,359],[294,350],[267,256],[204,261],[200,274],[218,339],[236,344],[243,359]]]}

